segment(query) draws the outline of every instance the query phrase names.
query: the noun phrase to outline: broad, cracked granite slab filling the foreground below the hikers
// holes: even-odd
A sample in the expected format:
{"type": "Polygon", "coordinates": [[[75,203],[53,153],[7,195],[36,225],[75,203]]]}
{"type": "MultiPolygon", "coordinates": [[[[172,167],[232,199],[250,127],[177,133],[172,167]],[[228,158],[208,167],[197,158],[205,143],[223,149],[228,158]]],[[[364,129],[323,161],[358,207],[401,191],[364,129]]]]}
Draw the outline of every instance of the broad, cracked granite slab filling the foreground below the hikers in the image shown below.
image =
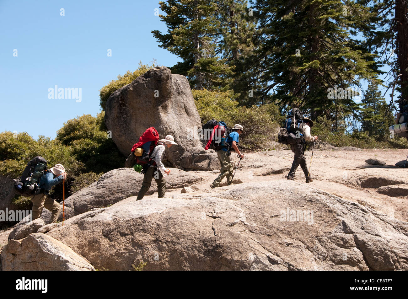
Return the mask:
{"type": "Polygon", "coordinates": [[[130,197],[65,224],[48,235],[110,270],[408,270],[406,222],[286,179],[130,197]]]}

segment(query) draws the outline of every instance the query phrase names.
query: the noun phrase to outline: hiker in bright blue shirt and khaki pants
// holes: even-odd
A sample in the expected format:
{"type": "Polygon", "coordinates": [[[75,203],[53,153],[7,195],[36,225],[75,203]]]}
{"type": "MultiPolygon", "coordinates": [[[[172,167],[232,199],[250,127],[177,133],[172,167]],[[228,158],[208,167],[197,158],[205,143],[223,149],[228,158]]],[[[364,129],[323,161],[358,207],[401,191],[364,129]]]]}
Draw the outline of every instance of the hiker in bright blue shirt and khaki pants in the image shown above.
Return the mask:
{"type": "Polygon", "coordinates": [[[212,184],[210,184],[211,188],[216,188],[220,186],[220,183],[224,177],[227,177],[228,184],[232,181],[233,175],[233,166],[231,164],[231,157],[230,157],[230,149],[233,148],[237,153],[239,153],[239,157],[243,158],[244,154],[239,151],[237,143],[239,142],[239,135],[244,132],[244,128],[240,124],[236,124],[231,128],[233,130],[228,135],[227,143],[229,147],[223,147],[220,151],[217,151],[218,159],[220,160],[221,164],[221,173],[220,175],[214,180],[212,184]]]}

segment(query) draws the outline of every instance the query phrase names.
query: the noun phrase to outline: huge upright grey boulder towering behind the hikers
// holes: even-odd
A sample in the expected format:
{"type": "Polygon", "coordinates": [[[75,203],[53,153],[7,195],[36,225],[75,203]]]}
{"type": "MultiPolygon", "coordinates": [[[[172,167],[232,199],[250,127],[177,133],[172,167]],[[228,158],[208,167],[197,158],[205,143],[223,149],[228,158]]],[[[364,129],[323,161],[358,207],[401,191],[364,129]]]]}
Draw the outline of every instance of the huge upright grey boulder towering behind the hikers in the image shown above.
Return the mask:
{"type": "Polygon", "coordinates": [[[150,69],[112,93],[106,102],[105,123],[126,157],[151,126],[162,138],[173,135],[178,144],[166,150],[166,159],[173,166],[191,168],[195,156],[204,153],[196,133],[200,115],[188,80],[172,75],[164,66],[150,69]]]}

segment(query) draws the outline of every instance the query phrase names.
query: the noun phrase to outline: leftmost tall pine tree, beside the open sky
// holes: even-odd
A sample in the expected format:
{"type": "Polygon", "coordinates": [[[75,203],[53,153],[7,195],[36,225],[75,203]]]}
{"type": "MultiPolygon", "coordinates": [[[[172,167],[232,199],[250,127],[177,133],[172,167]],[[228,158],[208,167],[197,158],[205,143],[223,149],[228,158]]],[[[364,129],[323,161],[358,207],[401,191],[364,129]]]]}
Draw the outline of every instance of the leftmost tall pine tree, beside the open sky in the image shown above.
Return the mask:
{"type": "Polygon", "coordinates": [[[220,22],[213,0],[168,0],[159,2],[166,16],[159,15],[167,33],[152,31],[159,47],[182,58],[172,73],[188,77],[196,89],[228,89],[233,67],[217,55],[220,22]]]}

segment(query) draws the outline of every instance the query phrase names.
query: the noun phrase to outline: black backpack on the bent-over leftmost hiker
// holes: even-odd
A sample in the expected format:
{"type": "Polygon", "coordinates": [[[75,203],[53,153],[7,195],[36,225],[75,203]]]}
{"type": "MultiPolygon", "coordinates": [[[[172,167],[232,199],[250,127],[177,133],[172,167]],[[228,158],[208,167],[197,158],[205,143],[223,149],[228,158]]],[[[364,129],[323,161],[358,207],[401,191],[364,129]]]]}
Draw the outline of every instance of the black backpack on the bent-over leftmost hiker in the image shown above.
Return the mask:
{"type": "Polygon", "coordinates": [[[37,156],[28,162],[22,175],[14,179],[14,189],[16,193],[31,197],[40,193],[40,180],[42,175],[47,171],[47,160],[37,156]]]}

